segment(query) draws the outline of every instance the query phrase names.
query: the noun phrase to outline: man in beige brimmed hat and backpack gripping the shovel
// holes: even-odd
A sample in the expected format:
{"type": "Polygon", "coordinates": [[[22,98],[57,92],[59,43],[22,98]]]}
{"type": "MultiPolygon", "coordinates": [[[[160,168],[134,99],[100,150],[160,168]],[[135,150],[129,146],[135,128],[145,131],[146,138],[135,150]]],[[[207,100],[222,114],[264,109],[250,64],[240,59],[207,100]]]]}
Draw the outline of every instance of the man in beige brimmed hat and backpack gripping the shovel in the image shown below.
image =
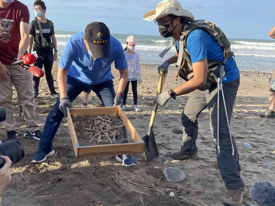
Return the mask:
{"type": "MultiPolygon", "coordinates": [[[[179,73],[181,69],[185,69],[187,65],[187,68],[189,68],[189,73],[187,72],[187,74],[193,74],[192,78],[187,78],[188,81],[181,86],[156,96],[153,102],[156,102],[160,106],[165,106],[171,98],[175,99],[176,96],[190,93],[184,111],[182,112],[184,134],[181,150],[170,153],[170,156],[177,160],[199,159],[196,146],[199,129],[197,118],[199,114],[208,107],[211,119],[211,132],[216,145],[217,162],[222,179],[228,189],[223,204],[228,206],[240,205],[243,199],[244,183],[240,177],[237,146],[234,138],[232,138],[231,142],[231,135],[229,136],[230,130],[228,127],[229,123],[227,124],[227,120],[229,119],[230,121],[233,111],[240,76],[237,65],[231,56],[233,54],[230,55],[230,58],[225,60],[225,54],[227,54],[230,49],[228,51],[225,51],[224,49],[223,51],[221,46],[213,39],[210,33],[199,29],[200,27],[198,25],[193,25],[192,22],[194,21],[194,16],[189,11],[182,9],[182,6],[178,1],[161,1],[156,9],[145,13],[143,19],[147,21],[155,20],[160,34],[166,38],[172,37],[172,42],[176,46],[176,54],[162,63],[158,67],[158,70],[160,71],[160,69],[164,69],[167,74],[169,65],[177,62],[177,65],[181,66],[179,73]],[[190,29],[189,27],[194,29],[190,29]],[[185,32],[188,33],[184,36],[185,32]],[[178,58],[178,56],[180,58],[178,58]],[[186,56],[188,59],[185,58],[186,56]],[[219,101],[223,101],[222,98],[218,98],[218,96],[221,96],[219,95],[221,92],[217,92],[217,86],[219,84],[213,82],[213,84],[209,84],[209,87],[206,84],[208,80],[207,74],[209,73],[208,69],[210,68],[208,62],[211,61],[216,61],[219,65],[226,68],[225,75],[223,76],[224,73],[219,72],[219,77],[221,78],[218,79],[219,84],[221,86],[223,85],[222,88],[225,96],[226,112],[224,108],[221,108],[221,110],[218,111],[219,106],[217,100],[219,99],[219,101]],[[227,118],[227,114],[229,118],[227,118]],[[219,127],[217,127],[218,121],[219,127]],[[219,150],[219,148],[221,148],[221,150],[219,150]]],[[[204,20],[201,21],[203,23],[206,22],[204,20]]],[[[215,27],[213,23],[210,24],[210,28],[212,27],[213,29],[215,27]]],[[[224,40],[227,40],[229,43],[225,35],[224,40]]],[[[170,46],[172,46],[172,42],[170,46]]]]}

